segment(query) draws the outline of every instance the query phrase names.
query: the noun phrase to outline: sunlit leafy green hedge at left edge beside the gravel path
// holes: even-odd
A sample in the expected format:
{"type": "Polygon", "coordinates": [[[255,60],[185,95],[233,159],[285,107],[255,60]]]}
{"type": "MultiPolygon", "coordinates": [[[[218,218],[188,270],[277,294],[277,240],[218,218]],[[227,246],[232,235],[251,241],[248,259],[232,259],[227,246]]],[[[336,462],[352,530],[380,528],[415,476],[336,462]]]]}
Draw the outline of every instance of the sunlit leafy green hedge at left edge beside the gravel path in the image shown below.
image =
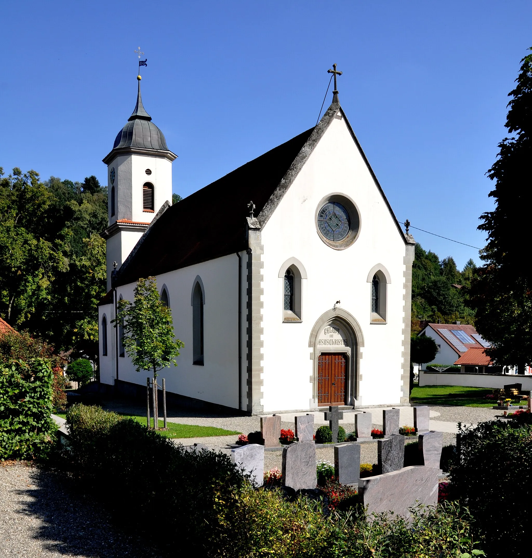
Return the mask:
{"type": "Polygon", "coordinates": [[[34,358],[0,364],[0,459],[35,459],[52,445],[50,362],[34,358]]]}

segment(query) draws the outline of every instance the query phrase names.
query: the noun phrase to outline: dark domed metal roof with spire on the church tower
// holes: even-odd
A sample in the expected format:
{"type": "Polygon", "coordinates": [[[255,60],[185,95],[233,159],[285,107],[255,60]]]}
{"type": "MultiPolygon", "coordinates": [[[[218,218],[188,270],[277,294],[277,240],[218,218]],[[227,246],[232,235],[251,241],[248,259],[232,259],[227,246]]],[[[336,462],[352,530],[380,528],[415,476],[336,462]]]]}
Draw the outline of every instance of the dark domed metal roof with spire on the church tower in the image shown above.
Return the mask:
{"type": "Polygon", "coordinates": [[[142,105],[140,81],[138,81],[135,110],[114,140],[113,150],[123,147],[169,151],[164,134],[151,122],[151,116],[142,105]]]}

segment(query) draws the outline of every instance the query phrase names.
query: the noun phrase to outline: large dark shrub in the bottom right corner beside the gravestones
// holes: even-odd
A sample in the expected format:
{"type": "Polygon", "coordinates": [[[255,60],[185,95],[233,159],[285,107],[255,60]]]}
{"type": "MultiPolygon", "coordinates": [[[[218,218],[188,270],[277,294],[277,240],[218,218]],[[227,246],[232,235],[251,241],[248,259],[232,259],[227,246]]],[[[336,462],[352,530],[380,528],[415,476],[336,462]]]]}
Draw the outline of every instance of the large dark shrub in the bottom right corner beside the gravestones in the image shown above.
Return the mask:
{"type": "Polygon", "coordinates": [[[451,497],[475,517],[490,556],[528,556],[532,513],[532,417],[481,422],[461,429],[460,460],[450,468],[451,497]],[[495,512],[496,510],[496,512],[495,512]]]}

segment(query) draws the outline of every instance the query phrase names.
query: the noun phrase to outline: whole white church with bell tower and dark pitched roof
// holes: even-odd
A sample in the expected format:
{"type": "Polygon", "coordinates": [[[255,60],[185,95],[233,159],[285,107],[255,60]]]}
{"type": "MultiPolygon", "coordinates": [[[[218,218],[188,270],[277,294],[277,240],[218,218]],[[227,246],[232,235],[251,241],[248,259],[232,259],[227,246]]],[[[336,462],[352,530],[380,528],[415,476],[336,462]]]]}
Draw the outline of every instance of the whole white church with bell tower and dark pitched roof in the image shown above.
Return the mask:
{"type": "Polygon", "coordinates": [[[146,386],[111,320],[138,278],[155,276],[185,344],[160,373],[181,400],[254,415],[408,403],[415,243],[338,92],[317,126],[172,205],[176,157],[139,81],[103,159],[100,382],[146,386]]]}

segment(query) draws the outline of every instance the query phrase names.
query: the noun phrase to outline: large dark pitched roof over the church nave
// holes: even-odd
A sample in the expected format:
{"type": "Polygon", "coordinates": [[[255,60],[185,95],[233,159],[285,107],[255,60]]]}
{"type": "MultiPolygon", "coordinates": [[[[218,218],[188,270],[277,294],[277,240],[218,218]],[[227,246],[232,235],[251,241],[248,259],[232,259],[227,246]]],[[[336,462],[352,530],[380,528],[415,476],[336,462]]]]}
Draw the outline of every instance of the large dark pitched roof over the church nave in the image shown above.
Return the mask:
{"type": "Polygon", "coordinates": [[[270,199],[314,128],[229,172],[167,209],[118,270],[116,285],[160,275],[247,248],[247,204],[270,199]]]}

